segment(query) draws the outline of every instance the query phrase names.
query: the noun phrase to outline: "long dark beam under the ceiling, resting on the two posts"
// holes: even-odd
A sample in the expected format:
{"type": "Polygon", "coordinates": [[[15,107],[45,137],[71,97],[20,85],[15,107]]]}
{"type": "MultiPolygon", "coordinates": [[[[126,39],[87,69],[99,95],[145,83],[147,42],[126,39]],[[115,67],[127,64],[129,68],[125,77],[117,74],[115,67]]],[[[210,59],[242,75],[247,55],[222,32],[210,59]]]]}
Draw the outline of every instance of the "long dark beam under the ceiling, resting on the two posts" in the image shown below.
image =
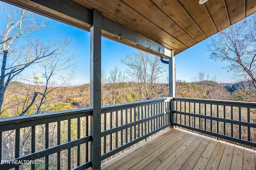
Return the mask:
{"type": "MultiPolygon", "coordinates": [[[[86,31],[92,26],[92,10],[72,0],[2,1],[86,31]]],[[[102,17],[102,36],[166,59],[171,56],[170,49],[105,17],[102,17]]]]}

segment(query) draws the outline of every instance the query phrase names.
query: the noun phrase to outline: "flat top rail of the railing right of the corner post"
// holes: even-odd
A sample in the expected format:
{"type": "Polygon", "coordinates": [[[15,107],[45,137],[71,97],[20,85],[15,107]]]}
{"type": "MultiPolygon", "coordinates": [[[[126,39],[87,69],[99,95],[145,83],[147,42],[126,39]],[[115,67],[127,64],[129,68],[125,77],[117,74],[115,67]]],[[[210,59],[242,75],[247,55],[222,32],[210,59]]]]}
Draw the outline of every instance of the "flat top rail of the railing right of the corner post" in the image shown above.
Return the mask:
{"type": "Polygon", "coordinates": [[[225,106],[234,106],[234,107],[247,107],[247,108],[256,109],[255,102],[193,99],[193,98],[183,98],[183,97],[174,97],[174,101],[186,101],[186,102],[192,102],[192,103],[204,103],[204,104],[225,105],[225,106]]]}

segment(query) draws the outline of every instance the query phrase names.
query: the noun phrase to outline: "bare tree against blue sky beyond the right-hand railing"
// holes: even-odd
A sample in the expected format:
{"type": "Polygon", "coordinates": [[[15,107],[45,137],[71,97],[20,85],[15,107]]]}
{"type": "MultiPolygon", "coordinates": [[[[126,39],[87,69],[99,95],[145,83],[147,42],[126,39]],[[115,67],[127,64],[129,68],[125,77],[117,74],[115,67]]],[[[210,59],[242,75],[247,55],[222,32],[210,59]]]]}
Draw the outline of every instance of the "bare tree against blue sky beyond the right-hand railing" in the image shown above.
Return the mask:
{"type": "Polygon", "coordinates": [[[256,87],[256,14],[218,33],[208,50],[210,59],[228,61],[225,68],[236,79],[250,80],[256,87]]]}

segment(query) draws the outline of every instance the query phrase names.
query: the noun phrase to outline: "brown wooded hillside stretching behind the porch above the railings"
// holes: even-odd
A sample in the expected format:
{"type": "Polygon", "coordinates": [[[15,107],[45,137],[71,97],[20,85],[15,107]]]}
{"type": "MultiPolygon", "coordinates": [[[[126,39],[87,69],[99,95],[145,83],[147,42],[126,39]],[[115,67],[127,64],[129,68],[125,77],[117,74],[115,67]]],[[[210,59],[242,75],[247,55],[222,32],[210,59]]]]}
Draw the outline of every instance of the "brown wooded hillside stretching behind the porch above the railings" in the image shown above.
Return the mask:
{"type": "MultiPolygon", "coordinates": [[[[247,82],[247,84],[249,84],[247,82]]],[[[3,111],[0,115],[4,117],[15,117],[78,109],[90,105],[90,84],[69,87],[51,87],[41,107],[40,100],[35,100],[31,107],[31,100],[34,98],[34,91],[44,89],[40,85],[28,85],[13,81],[7,88],[4,96],[3,111]],[[52,90],[52,91],[51,91],[52,90]],[[28,110],[26,110],[29,108],[28,110]],[[39,109],[38,109],[39,108],[39,109]]],[[[168,97],[168,84],[156,85],[151,92],[151,99],[168,97]]],[[[176,97],[188,97],[199,99],[234,100],[234,101],[256,101],[255,89],[247,86],[246,82],[236,84],[219,84],[215,81],[200,81],[188,83],[185,81],[176,82],[176,97]]],[[[112,105],[140,101],[139,86],[136,83],[108,83],[102,85],[102,105],[112,105]]],[[[38,94],[42,95],[42,94],[38,94]]]]}

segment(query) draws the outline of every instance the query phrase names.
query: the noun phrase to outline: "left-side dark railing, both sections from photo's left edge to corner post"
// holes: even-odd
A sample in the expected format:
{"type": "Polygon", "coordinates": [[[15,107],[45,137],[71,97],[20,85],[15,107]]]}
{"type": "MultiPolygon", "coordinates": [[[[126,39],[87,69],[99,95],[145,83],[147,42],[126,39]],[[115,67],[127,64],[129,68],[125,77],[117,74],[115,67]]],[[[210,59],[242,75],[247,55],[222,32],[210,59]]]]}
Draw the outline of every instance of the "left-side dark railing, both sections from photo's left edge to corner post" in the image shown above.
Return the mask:
{"type": "MultiPolygon", "coordinates": [[[[171,98],[102,107],[101,160],[170,126],[171,98]]],[[[0,169],[86,169],[92,108],[0,119],[0,169]]]]}

